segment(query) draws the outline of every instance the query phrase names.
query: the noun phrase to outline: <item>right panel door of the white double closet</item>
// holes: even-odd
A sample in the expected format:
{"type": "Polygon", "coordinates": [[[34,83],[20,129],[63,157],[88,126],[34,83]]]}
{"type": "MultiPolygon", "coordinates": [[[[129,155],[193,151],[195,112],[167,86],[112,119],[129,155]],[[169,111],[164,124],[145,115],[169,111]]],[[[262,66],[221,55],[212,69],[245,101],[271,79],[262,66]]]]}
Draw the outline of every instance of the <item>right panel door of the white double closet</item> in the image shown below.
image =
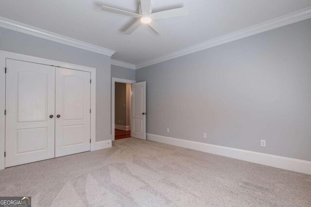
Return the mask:
{"type": "Polygon", "coordinates": [[[90,73],[56,67],[55,157],[90,150],[90,73]]]}

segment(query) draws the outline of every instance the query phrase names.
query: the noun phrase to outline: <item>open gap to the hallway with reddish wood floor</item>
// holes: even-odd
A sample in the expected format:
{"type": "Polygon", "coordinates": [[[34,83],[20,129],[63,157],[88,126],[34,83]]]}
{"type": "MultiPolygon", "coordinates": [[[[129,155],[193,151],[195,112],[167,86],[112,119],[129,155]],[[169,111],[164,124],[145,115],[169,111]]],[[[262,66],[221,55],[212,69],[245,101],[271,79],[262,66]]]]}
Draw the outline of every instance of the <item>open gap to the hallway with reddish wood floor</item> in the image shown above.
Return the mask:
{"type": "Polygon", "coordinates": [[[131,85],[115,82],[115,140],[131,137],[131,85]]]}

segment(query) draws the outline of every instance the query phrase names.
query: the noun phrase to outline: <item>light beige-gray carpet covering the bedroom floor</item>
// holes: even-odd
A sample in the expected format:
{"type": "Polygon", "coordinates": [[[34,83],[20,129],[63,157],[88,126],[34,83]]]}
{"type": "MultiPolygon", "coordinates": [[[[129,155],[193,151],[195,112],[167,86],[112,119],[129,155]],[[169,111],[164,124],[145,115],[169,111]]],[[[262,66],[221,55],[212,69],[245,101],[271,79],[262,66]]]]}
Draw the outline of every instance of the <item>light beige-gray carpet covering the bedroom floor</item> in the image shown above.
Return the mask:
{"type": "Polygon", "coordinates": [[[0,171],[33,206],[305,206],[311,175],[134,138],[0,171]]]}

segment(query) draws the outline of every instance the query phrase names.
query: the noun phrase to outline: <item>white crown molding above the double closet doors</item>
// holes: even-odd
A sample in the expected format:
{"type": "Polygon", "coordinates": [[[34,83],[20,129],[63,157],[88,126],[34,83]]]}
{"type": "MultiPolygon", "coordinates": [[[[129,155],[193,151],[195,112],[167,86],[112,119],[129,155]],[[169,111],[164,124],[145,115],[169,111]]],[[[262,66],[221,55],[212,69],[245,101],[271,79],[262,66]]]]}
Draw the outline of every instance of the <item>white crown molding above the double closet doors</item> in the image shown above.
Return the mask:
{"type": "Polygon", "coordinates": [[[82,42],[80,40],[66,37],[60,34],[41,30],[41,29],[26,25],[26,24],[22,24],[22,23],[19,23],[19,22],[16,22],[16,21],[13,21],[7,18],[3,18],[3,17],[0,17],[0,27],[14,30],[17,32],[23,32],[25,34],[30,34],[36,37],[47,39],[47,40],[52,40],[54,42],[62,43],[62,44],[69,45],[72,47],[86,49],[86,50],[104,54],[110,57],[116,52],[111,49],[102,48],[96,45],[82,42]]]}

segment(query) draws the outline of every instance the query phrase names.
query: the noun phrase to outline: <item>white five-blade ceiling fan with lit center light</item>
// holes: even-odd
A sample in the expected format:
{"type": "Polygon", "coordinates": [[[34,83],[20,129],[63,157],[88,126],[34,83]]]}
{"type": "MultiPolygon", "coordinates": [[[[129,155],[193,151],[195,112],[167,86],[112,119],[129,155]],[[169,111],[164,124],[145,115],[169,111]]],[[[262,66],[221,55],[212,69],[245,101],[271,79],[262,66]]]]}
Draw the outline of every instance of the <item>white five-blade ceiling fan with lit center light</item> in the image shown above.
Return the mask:
{"type": "Polygon", "coordinates": [[[139,2],[139,13],[136,14],[132,12],[127,12],[120,9],[111,8],[108,6],[102,6],[102,10],[105,12],[116,13],[119,15],[132,16],[138,18],[124,33],[131,34],[141,24],[148,24],[152,29],[155,30],[158,34],[164,34],[165,31],[154,21],[155,19],[164,19],[177,16],[187,16],[188,8],[182,7],[177,9],[170,9],[161,12],[151,13],[151,0],[140,0],[139,2]]]}

